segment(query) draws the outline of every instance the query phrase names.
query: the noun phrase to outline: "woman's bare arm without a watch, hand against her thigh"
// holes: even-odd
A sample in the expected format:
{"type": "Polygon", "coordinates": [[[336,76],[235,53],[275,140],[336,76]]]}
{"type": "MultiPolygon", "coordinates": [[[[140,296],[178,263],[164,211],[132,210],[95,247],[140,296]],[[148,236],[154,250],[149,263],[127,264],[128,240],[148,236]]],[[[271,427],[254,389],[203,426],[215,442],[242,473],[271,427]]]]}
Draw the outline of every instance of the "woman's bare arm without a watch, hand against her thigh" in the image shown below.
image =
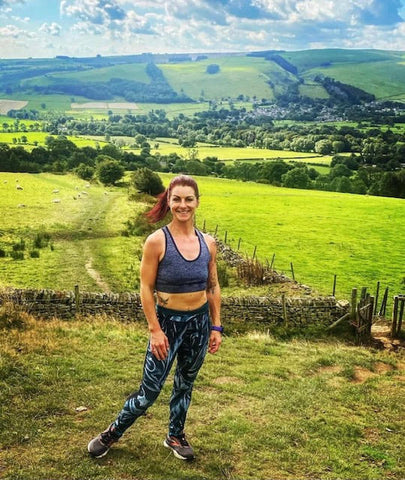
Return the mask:
{"type": "Polygon", "coordinates": [[[142,309],[148,322],[152,352],[158,360],[163,360],[167,357],[169,341],[160,327],[154,297],[159,255],[162,250],[162,239],[159,233],[158,231],[150,235],[143,247],[140,294],[142,309]]]}

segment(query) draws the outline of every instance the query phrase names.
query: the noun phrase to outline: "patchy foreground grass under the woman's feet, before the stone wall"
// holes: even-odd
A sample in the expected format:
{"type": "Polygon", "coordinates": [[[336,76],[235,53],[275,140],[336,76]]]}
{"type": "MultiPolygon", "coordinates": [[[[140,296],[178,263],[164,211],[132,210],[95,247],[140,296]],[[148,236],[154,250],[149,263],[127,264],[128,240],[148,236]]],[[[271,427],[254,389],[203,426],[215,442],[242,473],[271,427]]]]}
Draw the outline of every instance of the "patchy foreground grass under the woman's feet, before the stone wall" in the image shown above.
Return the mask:
{"type": "Polygon", "coordinates": [[[172,377],[146,417],[107,457],[93,460],[87,442],[141,380],[145,325],[25,317],[13,325],[1,332],[4,479],[405,476],[403,353],[334,338],[225,337],[194,389],[187,423],[194,462],[181,462],[162,446],[172,377]],[[87,410],[76,411],[80,406],[87,410]]]}

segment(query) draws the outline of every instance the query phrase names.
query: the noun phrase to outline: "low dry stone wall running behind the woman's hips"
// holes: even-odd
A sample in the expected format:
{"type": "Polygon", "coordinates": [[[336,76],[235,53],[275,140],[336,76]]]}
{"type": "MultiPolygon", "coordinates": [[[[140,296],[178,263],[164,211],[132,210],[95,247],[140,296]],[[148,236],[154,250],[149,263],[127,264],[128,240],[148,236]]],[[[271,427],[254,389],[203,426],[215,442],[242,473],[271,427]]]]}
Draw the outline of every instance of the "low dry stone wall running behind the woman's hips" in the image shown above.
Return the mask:
{"type": "MultiPolygon", "coordinates": [[[[114,316],[124,321],[144,321],[138,293],[88,293],[34,289],[0,290],[0,304],[11,302],[41,318],[68,319],[76,314],[114,316]]],[[[246,330],[286,323],[291,326],[329,325],[344,315],[348,302],[334,297],[287,298],[224,297],[222,321],[246,330]]]]}

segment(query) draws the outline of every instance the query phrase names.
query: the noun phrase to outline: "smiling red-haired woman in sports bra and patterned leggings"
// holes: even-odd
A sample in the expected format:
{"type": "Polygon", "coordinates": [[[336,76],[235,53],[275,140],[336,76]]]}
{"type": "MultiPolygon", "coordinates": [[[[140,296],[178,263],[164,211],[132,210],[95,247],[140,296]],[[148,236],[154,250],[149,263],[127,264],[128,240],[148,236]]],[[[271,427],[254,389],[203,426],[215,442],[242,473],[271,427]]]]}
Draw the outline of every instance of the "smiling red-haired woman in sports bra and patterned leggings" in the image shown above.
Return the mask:
{"type": "Polygon", "coordinates": [[[143,379],[117,419],[90,441],[88,451],[94,457],[104,456],[153,404],[177,357],[164,446],[177,458],[194,458],[184,423],[194,380],[207,350],[217,352],[222,332],[216,245],[211,236],[194,227],[198,205],[197,183],[179,175],[147,214],[156,223],[170,211],[172,220],[152,233],[143,248],[140,294],[150,332],[143,379]]]}

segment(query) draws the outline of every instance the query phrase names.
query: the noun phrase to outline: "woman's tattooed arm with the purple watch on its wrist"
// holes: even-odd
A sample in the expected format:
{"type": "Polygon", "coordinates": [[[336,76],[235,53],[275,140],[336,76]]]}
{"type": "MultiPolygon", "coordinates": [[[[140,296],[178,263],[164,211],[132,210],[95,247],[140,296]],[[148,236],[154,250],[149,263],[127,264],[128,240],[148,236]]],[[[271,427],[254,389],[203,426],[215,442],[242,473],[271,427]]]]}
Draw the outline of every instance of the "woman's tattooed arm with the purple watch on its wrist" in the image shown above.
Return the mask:
{"type": "MultiPolygon", "coordinates": [[[[208,265],[207,300],[210,309],[212,325],[221,326],[221,288],[218,282],[217,273],[217,246],[215,240],[209,235],[206,236],[208,248],[211,253],[211,260],[208,265]]],[[[221,332],[211,331],[208,351],[215,353],[222,342],[221,332]]]]}

